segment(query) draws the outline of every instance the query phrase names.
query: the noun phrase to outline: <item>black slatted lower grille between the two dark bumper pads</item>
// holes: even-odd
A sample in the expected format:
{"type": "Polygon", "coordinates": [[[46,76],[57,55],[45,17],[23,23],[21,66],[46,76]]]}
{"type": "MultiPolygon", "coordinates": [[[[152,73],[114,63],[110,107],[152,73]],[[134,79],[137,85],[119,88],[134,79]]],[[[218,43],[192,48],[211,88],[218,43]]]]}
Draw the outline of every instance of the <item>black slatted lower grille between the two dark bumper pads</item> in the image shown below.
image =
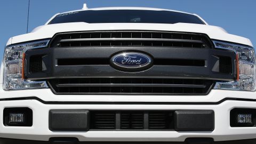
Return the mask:
{"type": "Polygon", "coordinates": [[[173,130],[173,111],[90,111],[91,130],[173,130]]]}

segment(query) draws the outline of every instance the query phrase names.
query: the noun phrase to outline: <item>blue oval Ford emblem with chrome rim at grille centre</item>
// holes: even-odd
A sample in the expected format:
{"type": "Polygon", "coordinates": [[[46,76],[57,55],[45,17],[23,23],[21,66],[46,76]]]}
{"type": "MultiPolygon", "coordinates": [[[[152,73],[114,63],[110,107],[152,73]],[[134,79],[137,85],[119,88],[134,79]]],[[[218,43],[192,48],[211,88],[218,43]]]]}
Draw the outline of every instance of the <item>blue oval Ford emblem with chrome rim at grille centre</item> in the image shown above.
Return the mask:
{"type": "Polygon", "coordinates": [[[149,68],[152,65],[152,59],[147,54],[125,52],[114,55],[110,63],[120,70],[139,71],[149,68]]]}

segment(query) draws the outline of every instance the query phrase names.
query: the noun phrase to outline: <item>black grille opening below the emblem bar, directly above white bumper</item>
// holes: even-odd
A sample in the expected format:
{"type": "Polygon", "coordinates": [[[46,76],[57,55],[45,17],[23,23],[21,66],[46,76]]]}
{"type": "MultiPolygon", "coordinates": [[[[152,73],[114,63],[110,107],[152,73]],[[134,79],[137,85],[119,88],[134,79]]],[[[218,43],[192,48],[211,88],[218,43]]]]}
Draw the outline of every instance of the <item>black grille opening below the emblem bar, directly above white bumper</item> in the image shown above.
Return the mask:
{"type": "Polygon", "coordinates": [[[55,94],[205,95],[211,80],[170,78],[63,78],[50,79],[55,94]]]}

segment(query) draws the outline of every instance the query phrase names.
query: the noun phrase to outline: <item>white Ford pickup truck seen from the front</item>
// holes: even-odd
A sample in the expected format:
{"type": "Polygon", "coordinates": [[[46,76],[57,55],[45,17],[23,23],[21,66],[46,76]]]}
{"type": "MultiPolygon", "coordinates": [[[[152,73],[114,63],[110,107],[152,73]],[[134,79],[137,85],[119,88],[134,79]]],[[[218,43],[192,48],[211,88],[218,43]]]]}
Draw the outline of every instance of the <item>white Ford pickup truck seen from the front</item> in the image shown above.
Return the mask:
{"type": "Polygon", "coordinates": [[[255,50],[196,14],[54,15],[4,49],[0,143],[256,143],[255,50]]]}

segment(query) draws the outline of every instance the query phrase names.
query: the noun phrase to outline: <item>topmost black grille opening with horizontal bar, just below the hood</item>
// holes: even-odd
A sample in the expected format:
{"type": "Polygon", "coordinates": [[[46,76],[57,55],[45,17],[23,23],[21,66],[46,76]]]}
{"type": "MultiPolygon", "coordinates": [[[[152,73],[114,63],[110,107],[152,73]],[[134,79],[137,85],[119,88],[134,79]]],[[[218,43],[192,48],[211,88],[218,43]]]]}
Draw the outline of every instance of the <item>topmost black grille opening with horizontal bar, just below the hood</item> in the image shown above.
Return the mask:
{"type": "Polygon", "coordinates": [[[77,46],[166,46],[209,48],[203,34],[164,31],[89,31],[57,34],[51,47],[77,46]]]}

